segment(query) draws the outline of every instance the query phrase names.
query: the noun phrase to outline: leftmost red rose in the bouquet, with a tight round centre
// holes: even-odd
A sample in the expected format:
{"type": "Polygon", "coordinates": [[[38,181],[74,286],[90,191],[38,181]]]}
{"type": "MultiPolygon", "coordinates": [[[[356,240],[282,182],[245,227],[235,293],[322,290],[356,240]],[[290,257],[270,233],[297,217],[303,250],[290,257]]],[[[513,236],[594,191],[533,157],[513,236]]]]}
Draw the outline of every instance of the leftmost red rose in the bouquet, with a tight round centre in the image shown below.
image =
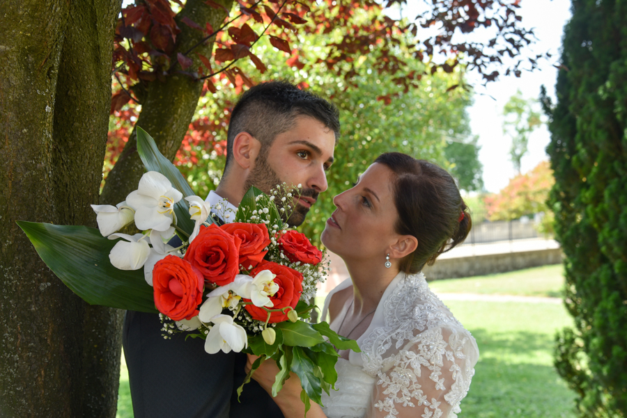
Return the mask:
{"type": "Polygon", "coordinates": [[[198,315],[203,301],[203,275],[176,255],[159,260],[153,268],[155,307],[174,321],[198,315]]]}

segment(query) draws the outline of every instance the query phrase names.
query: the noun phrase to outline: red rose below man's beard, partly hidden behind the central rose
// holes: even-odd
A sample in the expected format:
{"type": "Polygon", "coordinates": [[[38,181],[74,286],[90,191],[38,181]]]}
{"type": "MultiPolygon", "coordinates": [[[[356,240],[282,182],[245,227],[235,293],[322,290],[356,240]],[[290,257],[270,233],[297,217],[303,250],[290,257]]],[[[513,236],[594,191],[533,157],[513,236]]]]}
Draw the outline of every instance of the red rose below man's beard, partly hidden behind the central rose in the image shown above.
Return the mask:
{"type": "Polygon", "coordinates": [[[242,240],[240,245],[239,263],[248,269],[250,266],[256,266],[263,261],[264,251],[270,244],[270,235],[268,235],[268,227],[264,223],[226,223],[221,226],[224,232],[238,236],[242,240]]]}

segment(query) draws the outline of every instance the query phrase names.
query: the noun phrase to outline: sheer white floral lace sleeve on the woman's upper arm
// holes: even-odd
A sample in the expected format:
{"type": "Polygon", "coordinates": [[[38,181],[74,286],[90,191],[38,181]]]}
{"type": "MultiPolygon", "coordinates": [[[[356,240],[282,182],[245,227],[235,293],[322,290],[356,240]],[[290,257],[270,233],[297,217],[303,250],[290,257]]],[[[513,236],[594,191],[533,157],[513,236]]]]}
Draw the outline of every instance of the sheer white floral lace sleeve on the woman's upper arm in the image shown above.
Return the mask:
{"type": "Polygon", "coordinates": [[[471,339],[465,330],[442,327],[416,335],[384,360],[367,416],[456,417],[478,358],[471,339]]]}

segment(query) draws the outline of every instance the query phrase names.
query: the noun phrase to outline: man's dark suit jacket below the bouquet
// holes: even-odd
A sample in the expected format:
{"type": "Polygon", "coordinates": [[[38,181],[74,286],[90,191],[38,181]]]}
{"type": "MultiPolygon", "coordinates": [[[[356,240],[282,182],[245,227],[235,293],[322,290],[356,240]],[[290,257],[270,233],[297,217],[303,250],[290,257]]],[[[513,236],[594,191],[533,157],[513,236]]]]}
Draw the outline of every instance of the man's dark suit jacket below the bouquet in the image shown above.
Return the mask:
{"type": "MultiPolygon", "coordinates": [[[[175,236],[175,239],[178,237],[175,236]]],[[[180,246],[170,241],[172,246],[180,246]]],[[[282,418],[272,397],[244,381],[244,353],[205,352],[187,333],[164,339],[158,314],[127,311],[122,346],[135,418],[282,418]]]]}

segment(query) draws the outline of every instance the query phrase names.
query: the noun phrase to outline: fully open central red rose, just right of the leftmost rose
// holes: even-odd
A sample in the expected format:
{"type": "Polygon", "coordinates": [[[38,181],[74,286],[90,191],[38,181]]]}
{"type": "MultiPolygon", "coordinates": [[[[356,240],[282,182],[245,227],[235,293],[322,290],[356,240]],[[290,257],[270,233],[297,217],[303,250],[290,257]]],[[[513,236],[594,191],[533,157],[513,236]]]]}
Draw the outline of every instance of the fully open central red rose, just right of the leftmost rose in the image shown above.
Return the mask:
{"type": "Polygon", "coordinates": [[[205,280],[224,286],[240,272],[239,249],[242,240],[221,230],[217,225],[201,227],[187,252],[185,261],[199,269],[205,280]]]}

